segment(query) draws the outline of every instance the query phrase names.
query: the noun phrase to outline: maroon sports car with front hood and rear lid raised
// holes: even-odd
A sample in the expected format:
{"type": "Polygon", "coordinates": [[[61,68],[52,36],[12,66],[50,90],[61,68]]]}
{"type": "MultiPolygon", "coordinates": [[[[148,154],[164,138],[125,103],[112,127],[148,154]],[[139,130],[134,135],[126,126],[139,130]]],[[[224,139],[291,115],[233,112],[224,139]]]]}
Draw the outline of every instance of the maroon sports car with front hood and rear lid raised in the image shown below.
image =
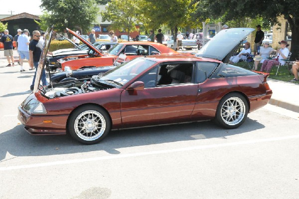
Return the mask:
{"type": "Polygon", "coordinates": [[[98,143],[114,129],[150,125],[214,120],[223,128],[240,127],[272,95],[268,73],[225,63],[253,30],[221,30],[196,56],[141,56],[89,80],[42,87],[50,29],[18,119],[30,134],[69,133],[84,144],[98,143]]]}

